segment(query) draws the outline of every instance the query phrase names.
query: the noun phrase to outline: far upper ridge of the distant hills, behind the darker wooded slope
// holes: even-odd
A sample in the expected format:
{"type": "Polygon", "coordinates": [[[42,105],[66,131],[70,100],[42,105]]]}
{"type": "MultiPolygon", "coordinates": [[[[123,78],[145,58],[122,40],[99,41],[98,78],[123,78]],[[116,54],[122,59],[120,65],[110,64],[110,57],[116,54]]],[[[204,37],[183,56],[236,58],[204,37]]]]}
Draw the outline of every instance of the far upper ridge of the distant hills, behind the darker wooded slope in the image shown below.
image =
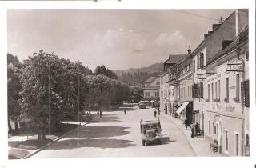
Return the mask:
{"type": "Polygon", "coordinates": [[[134,74],[134,73],[138,73],[138,72],[147,72],[149,74],[151,73],[159,73],[160,71],[163,70],[163,63],[154,63],[150,66],[147,67],[142,67],[142,68],[130,68],[128,70],[114,70],[114,73],[117,74],[118,76],[121,76],[122,73],[130,73],[130,74],[134,74]]]}

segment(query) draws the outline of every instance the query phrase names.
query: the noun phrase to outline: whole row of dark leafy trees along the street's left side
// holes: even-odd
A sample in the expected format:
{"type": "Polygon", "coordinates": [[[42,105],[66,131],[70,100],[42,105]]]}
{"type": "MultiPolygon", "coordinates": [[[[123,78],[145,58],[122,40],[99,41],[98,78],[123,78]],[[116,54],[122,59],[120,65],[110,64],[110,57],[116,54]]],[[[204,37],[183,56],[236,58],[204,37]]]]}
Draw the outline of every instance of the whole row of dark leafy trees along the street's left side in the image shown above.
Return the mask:
{"type": "Polygon", "coordinates": [[[9,129],[10,120],[30,120],[38,130],[38,140],[46,138],[46,128],[58,128],[66,114],[79,116],[92,105],[114,105],[131,95],[130,88],[105,66],[98,66],[93,73],[81,62],[43,50],[23,63],[7,54],[7,63],[9,129]]]}

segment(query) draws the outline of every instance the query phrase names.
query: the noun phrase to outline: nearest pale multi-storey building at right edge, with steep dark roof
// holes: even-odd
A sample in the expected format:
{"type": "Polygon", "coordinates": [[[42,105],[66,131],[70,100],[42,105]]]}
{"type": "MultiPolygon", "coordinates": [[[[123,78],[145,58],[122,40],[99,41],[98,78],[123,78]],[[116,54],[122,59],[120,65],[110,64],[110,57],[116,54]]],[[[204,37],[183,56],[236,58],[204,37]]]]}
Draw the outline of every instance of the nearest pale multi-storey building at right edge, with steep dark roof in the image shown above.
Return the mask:
{"type": "Polygon", "coordinates": [[[248,11],[236,10],[193,52],[194,110],[205,136],[218,142],[219,152],[234,156],[245,155],[249,146],[247,24],[248,11]]]}

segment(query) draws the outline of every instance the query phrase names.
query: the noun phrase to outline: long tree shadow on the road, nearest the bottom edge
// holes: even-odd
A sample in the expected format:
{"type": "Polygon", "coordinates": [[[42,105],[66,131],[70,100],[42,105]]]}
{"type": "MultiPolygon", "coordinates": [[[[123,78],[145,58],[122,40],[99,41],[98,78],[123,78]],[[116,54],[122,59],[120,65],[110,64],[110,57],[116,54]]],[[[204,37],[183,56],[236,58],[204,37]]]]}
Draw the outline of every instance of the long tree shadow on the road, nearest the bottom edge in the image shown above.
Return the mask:
{"type": "Polygon", "coordinates": [[[55,142],[53,146],[50,146],[46,150],[69,150],[81,147],[98,147],[98,148],[126,148],[134,146],[131,141],[122,139],[68,139],[55,142]]]}

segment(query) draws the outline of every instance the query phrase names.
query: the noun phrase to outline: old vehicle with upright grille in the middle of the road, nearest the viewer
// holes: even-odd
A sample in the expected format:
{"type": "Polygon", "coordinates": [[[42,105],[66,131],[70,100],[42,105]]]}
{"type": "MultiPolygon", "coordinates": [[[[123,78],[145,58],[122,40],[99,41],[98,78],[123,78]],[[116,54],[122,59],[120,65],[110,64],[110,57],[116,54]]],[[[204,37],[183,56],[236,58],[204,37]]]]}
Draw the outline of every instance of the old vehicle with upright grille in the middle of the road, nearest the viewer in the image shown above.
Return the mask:
{"type": "Polygon", "coordinates": [[[161,144],[162,129],[160,119],[153,121],[142,121],[140,122],[141,134],[142,134],[142,145],[145,146],[148,142],[158,142],[161,144]]]}

